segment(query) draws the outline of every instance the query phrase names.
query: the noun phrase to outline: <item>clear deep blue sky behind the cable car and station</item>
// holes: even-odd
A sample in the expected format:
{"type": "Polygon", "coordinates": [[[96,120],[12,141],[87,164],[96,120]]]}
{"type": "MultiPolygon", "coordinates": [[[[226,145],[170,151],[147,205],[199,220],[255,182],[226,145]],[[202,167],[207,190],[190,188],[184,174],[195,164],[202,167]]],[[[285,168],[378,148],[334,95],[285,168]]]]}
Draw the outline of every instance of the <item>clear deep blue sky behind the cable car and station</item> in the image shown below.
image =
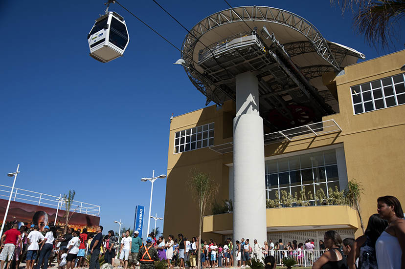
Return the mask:
{"type": "MultiPolygon", "coordinates": [[[[289,10],[366,60],[403,49],[403,32],[396,47],[370,47],[353,31],[351,13],[342,17],[326,0],[229,2],[289,10]]],[[[185,30],[152,0],[120,3],[181,47],[185,30]]],[[[188,29],[228,8],[221,0],[159,3],[188,29]]],[[[130,43],[124,57],[112,62],[90,58],[87,34],[104,0],[9,0],[0,9],[0,184],[11,185],[5,174],[21,164],[17,187],[52,195],[74,189],[75,200],[101,206],[105,228],[117,230],[113,220],[119,218],[133,227],[135,206],[146,212],[149,206],[150,183],[140,178],[151,177],[153,169],[166,173],[171,114],[205,103],[184,70],[172,64],[180,52],[112,4],[127,22],[130,43]]],[[[163,217],[165,186],[166,180],[154,184],[153,215],[163,217]]]]}

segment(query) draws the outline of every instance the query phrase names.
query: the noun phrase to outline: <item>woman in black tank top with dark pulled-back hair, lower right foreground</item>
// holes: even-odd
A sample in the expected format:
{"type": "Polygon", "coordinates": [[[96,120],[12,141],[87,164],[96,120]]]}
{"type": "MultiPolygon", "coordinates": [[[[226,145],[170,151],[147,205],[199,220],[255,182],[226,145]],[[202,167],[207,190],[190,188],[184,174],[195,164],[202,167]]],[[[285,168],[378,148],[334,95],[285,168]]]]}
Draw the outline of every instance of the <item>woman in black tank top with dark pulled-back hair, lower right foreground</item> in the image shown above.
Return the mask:
{"type": "Polygon", "coordinates": [[[322,254],[314,263],[312,269],[347,269],[346,257],[340,250],[342,238],[333,230],[325,232],[323,236],[325,247],[328,251],[322,254]]]}

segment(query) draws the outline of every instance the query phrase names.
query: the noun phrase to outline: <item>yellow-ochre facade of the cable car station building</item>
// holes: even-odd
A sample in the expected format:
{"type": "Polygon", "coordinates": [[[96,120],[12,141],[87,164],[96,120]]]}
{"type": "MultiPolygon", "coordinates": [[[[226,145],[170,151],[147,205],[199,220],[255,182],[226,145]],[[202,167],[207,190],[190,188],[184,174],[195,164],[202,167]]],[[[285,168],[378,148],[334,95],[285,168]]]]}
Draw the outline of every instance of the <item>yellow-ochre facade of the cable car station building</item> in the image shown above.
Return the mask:
{"type": "MultiPolygon", "coordinates": [[[[337,95],[339,113],[323,117],[309,128],[265,135],[266,197],[294,196],[305,187],[314,194],[343,190],[355,179],[364,188],[360,213],[367,225],[376,213],[377,198],[396,196],[405,203],[405,50],[360,62],[338,75],[323,75],[337,95]]],[[[174,117],[170,125],[164,233],[198,234],[197,201],[187,188],[192,169],[208,173],[219,185],[216,200],[233,198],[232,119],[235,103],[209,106],[174,117]]],[[[266,134],[266,127],[264,127],[266,134]]],[[[246,179],[249,180],[249,179],[246,179]]],[[[306,200],[310,200],[306,197],[306,200]]],[[[313,199],[314,200],[314,199],[313,199]]],[[[268,208],[267,238],[284,242],[323,239],[328,229],[346,237],[362,234],[357,211],[346,205],[268,208]]],[[[212,201],[213,203],[214,201],[212,201]]],[[[255,205],[255,197],[246,197],[255,205]]],[[[212,204],[211,204],[212,205],[212,204]]],[[[232,237],[232,213],[212,215],[207,205],[203,238],[219,242],[232,237]]],[[[254,222],[254,220],[251,220],[254,222]]],[[[234,240],[239,240],[235,238],[234,240]]]]}

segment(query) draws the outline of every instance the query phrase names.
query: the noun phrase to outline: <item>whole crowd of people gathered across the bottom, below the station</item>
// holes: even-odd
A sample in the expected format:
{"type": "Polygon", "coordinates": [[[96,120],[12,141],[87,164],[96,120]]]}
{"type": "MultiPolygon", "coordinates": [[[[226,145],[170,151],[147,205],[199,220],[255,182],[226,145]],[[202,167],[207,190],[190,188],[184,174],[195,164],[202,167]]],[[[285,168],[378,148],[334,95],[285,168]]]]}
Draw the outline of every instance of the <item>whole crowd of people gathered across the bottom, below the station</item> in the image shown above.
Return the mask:
{"type": "Polygon", "coordinates": [[[193,269],[197,263],[201,263],[202,268],[246,267],[252,258],[261,261],[262,257],[266,269],[272,269],[277,256],[293,258],[298,264],[306,259],[313,264],[313,269],[404,269],[405,219],[401,204],[393,196],[380,197],[377,203],[378,213],[370,216],[364,235],[356,240],[342,240],[337,231],[326,231],[324,240],[319,241],[319,248],[325,249],[319,258],[314,256],[313,239],[298,244],[293,240],[286,245],[281,239],[269,240],[261,245],[256,239],[252,244],[244,238],[233,243],[231,238],[216,242],[197,236],[190,240],[181,233],[177,238],[173,235],[156,238],[151,233],[144,245],[138,231],[131,236],[127,230],[118,242],[112,230],[103,237],[102,226],[97,227],[95,233],[69,228],[66,234],[58,236],[54,226],[41,223],[44,226],[41,231],[38,225],[19,228],[15,223],[1,236],[0,269],[4,269],[6,262],[6,269],[10,269],[13,260],[16,269],[23,260],[25,269],[47,269],[54,258],[59,269],[99,269],[102,254],[111,265],[117,255],[123,269],[135,269],[138,264],[141,269],[153,269],[155,260],[166,261],[167,269],[193,269]],[[89,262],[87,255],[90,255],[89,262]]]}

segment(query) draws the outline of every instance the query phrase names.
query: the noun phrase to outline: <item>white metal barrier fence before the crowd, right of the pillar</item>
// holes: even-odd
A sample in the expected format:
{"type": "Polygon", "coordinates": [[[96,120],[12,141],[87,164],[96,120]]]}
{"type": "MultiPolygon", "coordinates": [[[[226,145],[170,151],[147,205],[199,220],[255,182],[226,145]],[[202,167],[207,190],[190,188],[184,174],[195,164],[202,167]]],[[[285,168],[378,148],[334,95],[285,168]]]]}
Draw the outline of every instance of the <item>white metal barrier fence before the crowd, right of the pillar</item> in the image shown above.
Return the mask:
{"type": "Polygon", "coordinates": [[[283,265],[284,258],[293,258],[297,264],[295,266],[312,266],[314,262],[325,252],[321,249],[302,249],[302,250],[269,250],[269,253],[263,251],[263,255],[272,255],[276,258],[277,266],[283,265]]]}

